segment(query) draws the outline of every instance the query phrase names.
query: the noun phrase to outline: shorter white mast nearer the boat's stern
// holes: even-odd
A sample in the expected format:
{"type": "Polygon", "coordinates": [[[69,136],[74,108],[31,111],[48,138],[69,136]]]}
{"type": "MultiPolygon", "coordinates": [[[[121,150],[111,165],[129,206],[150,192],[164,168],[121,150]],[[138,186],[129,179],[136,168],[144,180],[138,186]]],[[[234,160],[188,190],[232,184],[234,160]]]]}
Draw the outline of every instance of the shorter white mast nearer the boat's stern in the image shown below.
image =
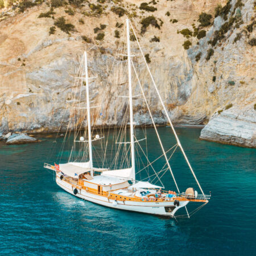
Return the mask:
{"type": "Polygon", "coordinates": [[[87,53],[84,52],[84,64],[85,64],[85,82],[86,82],[86,103],[87,103],[87,126],[88,126],[88,141],[89,141],[89,160],[90,160],[90,175],[93,176],[93,162],[92,162],[92,134],[90,131],[90,101],[89,101],[89,78],[88,78],[88,66],[87,66],[87,53]]]}

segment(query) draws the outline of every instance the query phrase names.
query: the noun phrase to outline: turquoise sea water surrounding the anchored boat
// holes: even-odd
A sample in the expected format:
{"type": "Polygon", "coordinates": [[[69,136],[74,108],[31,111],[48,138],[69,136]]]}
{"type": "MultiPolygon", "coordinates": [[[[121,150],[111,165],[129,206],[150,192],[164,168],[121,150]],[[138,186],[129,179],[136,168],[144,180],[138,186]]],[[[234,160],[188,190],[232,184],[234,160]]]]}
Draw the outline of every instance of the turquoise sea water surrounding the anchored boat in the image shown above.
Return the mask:
{"type": "MultiPolygon", "coordinates": [[[[170,129],[160,127],[159,133],[170,148],[170,129]]],[[[199,129],[177,133],[204,192],[212,191],[209,204],[177,222],[105,208],[61,190],[43,163],[55,161],[63,138],[1,143],[0,254],[255,255],[256,150],[200,141],[199,129]]],[[[160,148],[152,129],[147,141],[154,159],[160,148]]],[[[68,146],[64,151],[63,160],[68,146]]],[[[162,167],[163,160],[158,164],[162,167]]],[[[196,186],[180,152],[171,166],[181,191],[196,186]]],[[[169,172],[162,180],[175,189],[169,172]]]]}

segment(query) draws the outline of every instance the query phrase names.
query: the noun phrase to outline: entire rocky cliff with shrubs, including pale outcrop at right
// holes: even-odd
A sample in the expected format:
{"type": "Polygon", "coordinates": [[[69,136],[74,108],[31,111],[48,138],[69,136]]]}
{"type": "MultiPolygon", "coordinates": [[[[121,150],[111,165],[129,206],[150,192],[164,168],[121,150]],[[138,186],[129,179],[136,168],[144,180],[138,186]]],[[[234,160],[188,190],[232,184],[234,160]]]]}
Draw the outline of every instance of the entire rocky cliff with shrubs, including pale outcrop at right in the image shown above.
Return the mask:
{"type": "MultiPolygon", "coordinates": [[[[100,102],[119,40],[115,31],[121,33],[117,22],[129,16],[150,56],[152,75],[172,121],[199,124],[210,118],[201,138],[255,146],[254,1],[159,0],[144,6],[143,1],[26,2],[2,9],[1,131],[56,131],[60,122],[64,129],[72,114],[73,77],[85,48],[91,49],[89,71],[98,76],[93,100],[100,102]],[[216,13],[218,4],[222,7],[216,13]],[[216,18],[209,24],[207,16],[206,23],[199,21],[202,12],[216,18]],[[143,19],[149,16],[155,20],[144,31],[143,19]],[[73,27],[56,25],[61,17],[73,27]],[[100,33],[104,41],[97,40],[100,33]]],[[[109,103],[116,89],[111,88],[105,102],[105,125],[113,125],[109,103]]],[[[166,122],[154,92],[148,96],[157,121],[166,122]]],[[[122,102],[118,108],[123,109],[122,102]]],[[[136,102],[135,112],[138,123],[150,123],[136,102]]]]}

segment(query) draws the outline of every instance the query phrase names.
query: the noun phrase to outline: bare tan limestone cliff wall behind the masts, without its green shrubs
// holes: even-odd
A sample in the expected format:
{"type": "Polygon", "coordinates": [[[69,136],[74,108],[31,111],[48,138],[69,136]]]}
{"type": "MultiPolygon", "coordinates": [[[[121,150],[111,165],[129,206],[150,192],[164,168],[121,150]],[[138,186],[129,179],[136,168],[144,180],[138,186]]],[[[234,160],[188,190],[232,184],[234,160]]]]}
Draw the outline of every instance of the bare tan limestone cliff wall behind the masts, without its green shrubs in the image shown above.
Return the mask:
{"type": "MultiPolygon", "coordinates": [[[[96,5],[98,3],[94,0],[90,2],[96,5]]],[[[183,28],[193,30],[192,24],[195,23],[196,26],[199,24],[197,19],[202,11],[214,15],[214,7],[218,3],[224,6],[225,0],[161,1],[157,3],[158,10],[154,13],[147,11],[142,13],[138,9],[142,2],[123,1],[123,4],[129,13],[133,13],[133,9],[136,9],[137,16],[134,16],[132,23],[144,54],[150,55],[149,66],[152,75],[173,122],[189,125],[205,124],[212,115],[213,118],[215,117],[214,113],[217,110],[225,109],[230,103],[237,106],[237,115],[246,106],[254,104],[255,47],[247,43],[249,39],[245,33],[234,43],[238,32],[246,30],[246,26],[254,17],[253,0],[242,0],[243,24],[226,33],[225,40],[214,47],[214,54],[208,61],[205,60],[210,47],[208,42],[212,39],[214,31],[219,30],[225,20],[220,16],[214,19],[213,26],[205,28],[207,35],[199,40],[199,44],[196,44],[198,41],[196,38],[189,38],[194,46],[188,51],[182,46],[187,38],[177,34],[177,30],[183,28]],[[170,16],[166,15],[167,11],[170,12],[170,16]],[[148,26],[142,36],[141,19],[152,14],[159,23],[161,19],[163,24],[160,29],[148,26]],[[170,19],[177,19],[178,22],[172,23],[170,19]],[[154,36],[160,38],[159,43],[151,42],[154,36]],[[201,59],[196,61],[195,56],[199,52],[201,59]]],[[[232,8],[235,4],[236,1],[232,1],[232,8]]],[[[55,19],[38,18],[40,13],[49,11],[50,8],[46,3],[27,9],[24,13],[15,13],[13,9],[6,11],[11,13],[9,18],[0,22],[0,131],[2,133],[8,131],[36,133],[65,130],[67,127],[72,129],[73,122],[69,121],[75,113],[72,110],[73,82],[85,48],[88,49],[89,75],[97,76],[97,79],[90,83],[90,98],[94,105],[101,105],[102,95],[106,96],[102,104],[104,119],[96,122],[92,118],[92,122],[105,126],[121,123],[127,104],[125,101],[119,101],[119,105],[114,106],[112,102],[116,100],[117,90],[127,95],[126,85],[119,87],[111,85],[107,90],[105,86],[108,84],[108,76],[119,40],[114,37],[114,31],[117,29],[115,24],[125,23],[126,19],[126,16],[119,18],[110,10],[113,5],[114,3],[110,2],[106,5],[103,14],[94,16],[88,5],[79,8],[71,6],[75,15],[68,15],[65,13],[66,7],[59,7],[54,10],[55,19]],[[74,24],[76,31],[68,35],[56,27],[55,34],[49,35],[49,28],[54,26],[55,20],[60,16],[64,16],[67,22],[74,24]],[[79,22],[80,19],[83,19],[84,23],[79,22]],[[106,24],[104,42],[95,40],[96,34],[93,28],[98,27],[99,24],[106,24]],[[85,43],[82,35],[88,36],[93,42],[85,43]]],[[[233,9],[230,10],[229,16],[232,11],[233,9]]],[[[255,36],[255,31],[250,36],[255,36]]],[[[138,48],[134,47],[135,42],[131,44],[133,53],[138,53],[138,48]]],[[[139,73],[146,74],[145,67],[139,61],[134,60],[134,63],[139,73]]],[[[133,82],[135,84],[135,80],[133,82]]],[[[150,79],[145,78],[143,86],[146,88],[148,104],[155,121],[166,123],[162,106],[150,86],[150,79]]],[[[82,93],[85,96],[85,88],[82,88],[82,93]]],[[[135,93],[139,94],[138,90],[135,93]]],[[[85,104],[85,101],[80,100],[80,104],[85,104]]],[[[227,122],[230,120],[226,116],[223,118],[226,118],[227,122]]],[[[134,100],[134,120],[137,125],[151,123],[148,112],[138,100],[134,100]]],[[[80,119],[76,121],[82,122],[80,119]]],[[[86,122],[82,122],[82,126],[85,124],[86,122]]],[[[218,134],[217,130],[216,134],[218,134]]]]}

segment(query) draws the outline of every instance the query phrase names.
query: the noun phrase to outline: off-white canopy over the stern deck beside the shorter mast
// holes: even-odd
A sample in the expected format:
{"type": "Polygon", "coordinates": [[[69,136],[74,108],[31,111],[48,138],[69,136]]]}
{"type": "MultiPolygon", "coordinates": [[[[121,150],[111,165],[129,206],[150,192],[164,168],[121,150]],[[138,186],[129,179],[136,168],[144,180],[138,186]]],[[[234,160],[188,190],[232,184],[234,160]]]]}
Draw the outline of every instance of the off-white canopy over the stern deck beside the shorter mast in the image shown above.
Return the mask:
{"type": "Polygon", "coordinates": [[[88,171],[104,171],[106,169],[102,168],[92,168],[90,169],[90,162],[69,162],[65,164],[59,164],[60,171],[63,174],[68,175],[73,178],[78,178],[79,175],[84,174],[88,171]]]}

